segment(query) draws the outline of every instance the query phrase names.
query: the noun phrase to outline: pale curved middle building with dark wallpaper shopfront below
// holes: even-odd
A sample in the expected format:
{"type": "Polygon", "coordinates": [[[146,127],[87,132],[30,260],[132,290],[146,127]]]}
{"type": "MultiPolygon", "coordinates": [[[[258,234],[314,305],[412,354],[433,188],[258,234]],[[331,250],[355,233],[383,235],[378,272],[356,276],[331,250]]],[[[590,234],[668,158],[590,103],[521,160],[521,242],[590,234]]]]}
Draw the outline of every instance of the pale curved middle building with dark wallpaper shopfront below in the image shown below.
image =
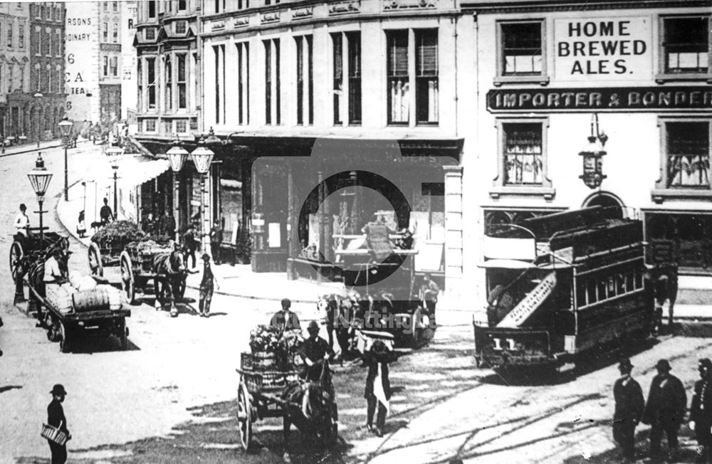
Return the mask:
{"type": "MultiPolygon", "coordinates": [[[[377,213],[415,231],[419,273],[461,292],[473,16],[442,0],[227,0],[203,4],[199,29],[201,132],[221,139],[207,213],[227,259],[329,278],[339,236],[377,213]]],[[[157,132],[142,139],[163,152],[157,132]]]]}

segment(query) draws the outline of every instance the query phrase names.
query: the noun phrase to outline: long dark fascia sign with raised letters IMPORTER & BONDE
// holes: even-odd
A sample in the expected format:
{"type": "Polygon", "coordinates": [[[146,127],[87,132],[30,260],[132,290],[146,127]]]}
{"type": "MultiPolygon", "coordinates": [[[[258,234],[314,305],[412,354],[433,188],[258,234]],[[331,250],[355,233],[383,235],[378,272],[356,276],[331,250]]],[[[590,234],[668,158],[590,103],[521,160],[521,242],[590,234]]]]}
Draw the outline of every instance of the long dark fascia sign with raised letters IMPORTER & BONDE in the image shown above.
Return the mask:
{"type": "Polygon", "coordinates": [[[712,109],[712,88],[498,89],[487,93],[490,112],[677,111],[712,109]]]}

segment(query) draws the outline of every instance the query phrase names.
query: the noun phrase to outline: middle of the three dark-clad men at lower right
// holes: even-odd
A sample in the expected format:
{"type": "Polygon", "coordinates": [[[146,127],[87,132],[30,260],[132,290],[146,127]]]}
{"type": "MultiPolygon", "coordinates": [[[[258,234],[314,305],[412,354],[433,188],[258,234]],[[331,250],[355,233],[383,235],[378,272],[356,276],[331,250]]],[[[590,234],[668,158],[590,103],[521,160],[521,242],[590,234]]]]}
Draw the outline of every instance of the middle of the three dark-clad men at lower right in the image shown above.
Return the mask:
{"type": "Polygon", "coordinates": [[[659,459],[660,441],[665,432],[670,454],[676,454],[677,432],[685,417],[687,394],[680,379],[670,374],[670,363],[661,359],[655,365],[658,374],[650,384],[642,423],[650,424],[650,458],[659,459]]]}

